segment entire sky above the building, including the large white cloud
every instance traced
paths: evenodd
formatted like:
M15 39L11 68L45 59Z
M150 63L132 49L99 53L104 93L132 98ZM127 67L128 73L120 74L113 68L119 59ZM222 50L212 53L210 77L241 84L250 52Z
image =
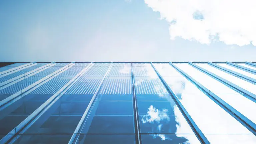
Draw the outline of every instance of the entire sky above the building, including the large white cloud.
M253 61L253 0L1 0L0 61Z

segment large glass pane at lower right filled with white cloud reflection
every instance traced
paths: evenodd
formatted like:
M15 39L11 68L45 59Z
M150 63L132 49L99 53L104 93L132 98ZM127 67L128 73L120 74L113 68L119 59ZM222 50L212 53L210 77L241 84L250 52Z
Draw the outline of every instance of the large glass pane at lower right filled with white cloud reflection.
M251 134L204 94L182 94L180 102L204 134ZM210 141L211 142L211 141Z

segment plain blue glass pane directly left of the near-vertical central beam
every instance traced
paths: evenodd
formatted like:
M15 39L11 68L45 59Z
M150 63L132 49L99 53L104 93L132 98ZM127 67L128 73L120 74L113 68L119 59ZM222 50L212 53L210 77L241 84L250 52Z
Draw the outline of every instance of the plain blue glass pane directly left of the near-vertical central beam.
M132 95L99 94L82 134L134 134Z

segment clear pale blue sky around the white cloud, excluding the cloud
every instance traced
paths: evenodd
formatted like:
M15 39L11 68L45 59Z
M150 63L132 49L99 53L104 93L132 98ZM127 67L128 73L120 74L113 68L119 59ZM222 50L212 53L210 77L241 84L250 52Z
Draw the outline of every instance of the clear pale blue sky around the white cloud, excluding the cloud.
M256 61L253 44L202 44L184 35L171 40L168 17L161 19L165 13L153 6L142 0L2 0L0 61Z

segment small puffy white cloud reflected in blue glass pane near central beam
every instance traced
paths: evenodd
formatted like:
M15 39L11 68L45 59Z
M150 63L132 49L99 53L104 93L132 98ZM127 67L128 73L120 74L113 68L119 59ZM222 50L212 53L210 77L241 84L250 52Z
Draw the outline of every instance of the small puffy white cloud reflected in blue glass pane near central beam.
M147 115L143 116L141 121L143 123L146 123L146 122L154 122L156 121L157 123L159 123L161 120L163 119L167 119L168 121L170 120L169 116L167 115L167 112L168 112L168 109L162 109L161 110L158 110L156 109L155 107L153 107L152 105L149 106L148 108L148 112L147 112ZM161 127L161 126L160 126ZM159 127L158 127L159 128Z

